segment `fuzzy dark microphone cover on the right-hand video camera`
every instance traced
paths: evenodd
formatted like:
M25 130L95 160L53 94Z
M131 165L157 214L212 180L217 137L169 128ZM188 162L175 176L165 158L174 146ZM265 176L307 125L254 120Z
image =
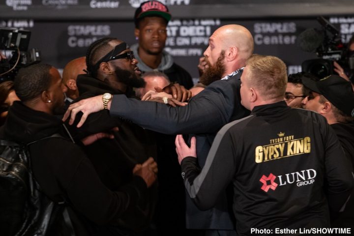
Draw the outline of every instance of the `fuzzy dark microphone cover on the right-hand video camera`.
M316 49L322 45L323 41L323 30L310 28L304 30L297 36L296 45L300 47L302 51L315 53Z

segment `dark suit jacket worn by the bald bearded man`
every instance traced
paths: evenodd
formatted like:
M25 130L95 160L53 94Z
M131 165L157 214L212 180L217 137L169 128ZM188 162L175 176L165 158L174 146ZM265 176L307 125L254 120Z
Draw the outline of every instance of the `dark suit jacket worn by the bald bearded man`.
M113 96L110 114L132 120L145 128L165 134L195 134L200 166L204 166L215 134L226 123L249 114L240 104L240 74L218 80L194 96L184 107ZM139 115L137 115L139 114ZM216 206L201 211L187 198L186 227L189 229L234 229L226 194Z

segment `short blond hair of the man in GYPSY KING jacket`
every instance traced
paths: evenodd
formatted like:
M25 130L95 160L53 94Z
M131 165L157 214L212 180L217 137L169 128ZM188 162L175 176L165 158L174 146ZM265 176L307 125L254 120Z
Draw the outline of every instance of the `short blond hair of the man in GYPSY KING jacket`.
M285 63L274 56L254 54L246 61L250 76L248 82L266 99L283 97L288 76Z

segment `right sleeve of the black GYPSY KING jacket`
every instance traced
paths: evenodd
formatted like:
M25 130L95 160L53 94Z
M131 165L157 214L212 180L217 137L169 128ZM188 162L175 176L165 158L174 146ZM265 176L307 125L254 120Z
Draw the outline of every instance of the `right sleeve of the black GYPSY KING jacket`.
M323 124L323 129L328 204L332 210L341 211L351 195L354 184L352 165L333 129L326 123Z

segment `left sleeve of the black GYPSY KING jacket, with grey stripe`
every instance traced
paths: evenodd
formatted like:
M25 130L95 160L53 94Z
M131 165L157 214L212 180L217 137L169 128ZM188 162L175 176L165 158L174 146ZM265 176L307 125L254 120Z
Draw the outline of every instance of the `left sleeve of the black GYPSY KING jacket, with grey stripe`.
M181 162L185 188L194 204L201 210L214 207L221 192L232 181L236 170L236 151L228 127L216 135L200 171L196 158L187 157Z

